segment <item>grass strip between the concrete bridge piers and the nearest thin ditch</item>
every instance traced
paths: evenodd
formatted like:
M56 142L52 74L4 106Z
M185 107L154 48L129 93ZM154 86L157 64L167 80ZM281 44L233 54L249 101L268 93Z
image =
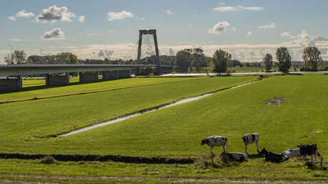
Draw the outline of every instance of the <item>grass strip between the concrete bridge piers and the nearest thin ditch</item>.
M162 77L162 78L130 78L125 80L111 80L94 83L77 82L76 78L70 79L69 86L46 86L45 80L23 80L22 92L0 92L1 102L17 102L29 99L41 99L48 97L61 97L65 95L85 94L92 92L103 92L119 90L130 87L146 85L159 85L169 82L180 82L186 80L197 80L195 77Z

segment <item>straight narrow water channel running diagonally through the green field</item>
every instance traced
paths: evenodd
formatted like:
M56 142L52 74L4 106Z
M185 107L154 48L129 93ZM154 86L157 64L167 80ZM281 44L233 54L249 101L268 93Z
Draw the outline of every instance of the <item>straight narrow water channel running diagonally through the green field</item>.
M96 124L96 125L93 125L93 126L88 126L88 127L86 127L86 128L83 128L83 129L79 129L79 130L76 130L76 131L71 131L71 132L69 132L69 133L67 133L67 134L63 134L63 135L61 135L61 136L57 136L57 137L55 137L55 139L60 138L60 137L63 137L63 136L70 136L70 135L73 135L73 134L78 134L79 132L82 132L82 131L88 131L88 130L91 130L91 129L96 129L96 128L98 128L98 127L106 126L106 125L108 125L108 124L117 123L117 122L119 122L119 121L123 121L123 120L125 120L125 119L130 119L131 117L137 117L137 116L139 116L140 114L145 114L145 113L148 113L148 112L157 111L157 110L164 109L164 108L167 108L167 107L173 107L173 106L178 105L178 104L185 104L185 103L187 103L187 102L193 102L193 101L195 101L195 100L202 99L203 97L210 96L210 95L215 94L215 93L217 93L217 92L221 92L221 91L223 91L223 90L229 90L229 89L236 88L236 87L241 87L241 86L248 85L248 84L250 84L250 83L252 83L252 82L256 82L256 81L257 81L257 80L255 80L255 81L251 81L251 82L247 82L247 83L242 84L242 85L237 85L237 86L233 86L233 87L227 87L227 88L224 88L224 89L222 89L222 90L217 90L216 92L209 92L209 93L207 93L207 94L202 94L202 95L200 95L200 96L198 96L198 97L190 97L190 98L188 98L188 99L182 99L182 100L180 100L180 101L178 101L178 102L173 102L172 104L165 105L164 107L160 107L160 108L158 108L158 109L150 109L149 111L146 111L146 112L137 113L137 114L132 114L132 115L129 115L129 116L127 116L127 117L122 117L122 118L114 119L114 120L112 120L112 121L103 122L103 123L101 123L101 124Z

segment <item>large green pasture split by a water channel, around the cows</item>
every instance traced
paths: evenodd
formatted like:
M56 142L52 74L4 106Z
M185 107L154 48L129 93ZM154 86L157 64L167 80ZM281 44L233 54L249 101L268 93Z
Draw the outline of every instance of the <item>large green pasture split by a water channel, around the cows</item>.
M61 134L255 79L254 76L205 77L126 90L0 104L2 153L191 157L196 161L191 165L59 161L44 165L38 160L1 159L2 179L15 178L15 175L8 175L14 173L32 175L27 180L34 180L33 175L107 175L140 176L145 180L158 177L327 181L327 75L273 76L195 102L160 109L72 136L35 138ZM133 80L139 79L128 80L132 84ZM286 100L281 106L267 106L267 99L273 97L285 97ZM210 148L200 146L201 139L212 135L228 136L231 140L229 151L244 152L241 137L253 132L260 134L260 148L275 153L296 148L299 144L316 143L319 153L324 156L323 166L319 167L317 163L310 169L299 159L267 163L258 156L252 156L247 163L231 164L220 163L215 158L215 168L210 166ZM215 155L221 151L222 148L215 148ZM251 144L248 153L255 154L256 146ZM58 178L53 181L63 182Z

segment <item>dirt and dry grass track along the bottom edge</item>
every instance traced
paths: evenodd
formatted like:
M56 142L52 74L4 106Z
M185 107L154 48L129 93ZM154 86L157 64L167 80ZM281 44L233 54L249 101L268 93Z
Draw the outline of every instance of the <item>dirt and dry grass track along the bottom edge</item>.
M328 180L234 180L234 179L197 179L197 178L145 178L128 176L62 176L62 175L23 175L0 174L0 183L107 183L149 181L164 183L328 183Z

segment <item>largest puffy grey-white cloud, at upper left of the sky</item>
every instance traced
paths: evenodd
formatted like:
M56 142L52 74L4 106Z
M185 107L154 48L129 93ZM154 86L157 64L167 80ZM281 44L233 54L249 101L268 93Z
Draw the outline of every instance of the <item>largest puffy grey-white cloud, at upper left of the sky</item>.
M48 9L43 9L42 13L36 17L36 21L43 23L54 23L56 21L71 22L71 18L75 17L75 14L68 11L66 6L60 8L51 6Z

